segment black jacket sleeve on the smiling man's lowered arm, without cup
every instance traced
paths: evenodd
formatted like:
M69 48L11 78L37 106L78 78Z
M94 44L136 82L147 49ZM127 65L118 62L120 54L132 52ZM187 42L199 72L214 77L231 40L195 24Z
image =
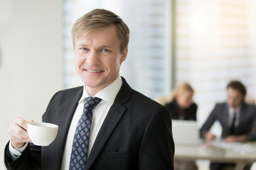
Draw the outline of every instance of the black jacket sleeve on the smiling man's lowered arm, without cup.
M174 140L171 118L165 107L149 120L139 149L139 169L174 169Z

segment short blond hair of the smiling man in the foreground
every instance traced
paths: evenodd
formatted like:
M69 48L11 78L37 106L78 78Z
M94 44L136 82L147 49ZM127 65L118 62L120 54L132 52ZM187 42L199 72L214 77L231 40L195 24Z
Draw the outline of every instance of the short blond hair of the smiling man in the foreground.
M88 13L85 13L84 16L78 18L78 20L75 21L72 28L74 49L76 39L87 35L87 33L90 33L92 30L105 28L108 26L115 26L117 30L117 36L121 41L120 52L123 52L123 50L128 47L129 28L124 23L124 21L119 18L119 16L117 16L112 11L107 11L105 9L92 10Z

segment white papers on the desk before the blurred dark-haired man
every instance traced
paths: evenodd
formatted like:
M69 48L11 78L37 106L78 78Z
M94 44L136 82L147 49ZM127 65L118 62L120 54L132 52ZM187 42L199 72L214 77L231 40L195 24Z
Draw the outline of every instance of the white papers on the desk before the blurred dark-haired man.
M208 144L214 147L219 147L221 149L228 149L233 152L237 152L239 154L255 154L256 153L256 146L250 143L241 143L241 142L228 143L223 140L220 140L220 141L209 142Z

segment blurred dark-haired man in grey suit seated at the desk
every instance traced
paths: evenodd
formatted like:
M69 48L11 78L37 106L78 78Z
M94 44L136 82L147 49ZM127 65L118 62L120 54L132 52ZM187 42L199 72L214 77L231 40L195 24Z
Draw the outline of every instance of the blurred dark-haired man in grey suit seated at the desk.
M245 142L256 140L256 107L245 103L246 89L240 81L230 81L227 86L228 98L225 103L217 103L201 128L201 137L208 141L216 136L210 128L218 120L222 127L221 137L225 142ZM210 164L210 169L221 170L226 164ZM250 165L246 167L250 169Z

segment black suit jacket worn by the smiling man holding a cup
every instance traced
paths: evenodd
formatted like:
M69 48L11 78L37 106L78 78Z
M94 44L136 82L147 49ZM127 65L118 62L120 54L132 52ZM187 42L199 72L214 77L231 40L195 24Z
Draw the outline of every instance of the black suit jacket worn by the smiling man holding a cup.
M85 169L174 169L169 112L131 89L124 79L122 81L122 88L100 128ZM59 126L54 142L48 147L30 144L14 162L11 162L6 145L6 167L60 169L70 122L81 96L82 87L55 94L43 115L43 122Z

